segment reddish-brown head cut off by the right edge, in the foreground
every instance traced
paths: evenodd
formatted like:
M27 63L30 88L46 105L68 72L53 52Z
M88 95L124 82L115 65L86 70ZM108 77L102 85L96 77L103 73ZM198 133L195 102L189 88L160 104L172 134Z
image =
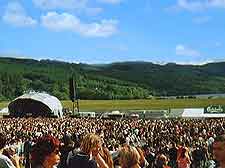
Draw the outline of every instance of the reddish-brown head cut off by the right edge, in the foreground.
M213 143L213 154L217 161L225 162L225 134L215 138Z

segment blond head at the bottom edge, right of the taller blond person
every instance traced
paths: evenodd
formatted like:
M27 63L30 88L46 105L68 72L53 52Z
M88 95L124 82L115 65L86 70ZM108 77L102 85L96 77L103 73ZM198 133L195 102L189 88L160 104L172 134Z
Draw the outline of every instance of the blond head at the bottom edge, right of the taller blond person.
M132 168L139 165L140 155L132 146L124 146L119 152L121 168Z

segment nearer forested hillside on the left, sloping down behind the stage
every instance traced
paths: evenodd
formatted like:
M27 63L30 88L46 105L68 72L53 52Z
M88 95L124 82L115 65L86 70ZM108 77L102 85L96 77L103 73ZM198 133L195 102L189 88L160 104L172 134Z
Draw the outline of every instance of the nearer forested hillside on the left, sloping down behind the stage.
M91 73L95 66L59 61L0 58L0 100L11 100L26 91L47 92L69 99L69 78L73 75L80 99L138 99L149 91L135 82Z

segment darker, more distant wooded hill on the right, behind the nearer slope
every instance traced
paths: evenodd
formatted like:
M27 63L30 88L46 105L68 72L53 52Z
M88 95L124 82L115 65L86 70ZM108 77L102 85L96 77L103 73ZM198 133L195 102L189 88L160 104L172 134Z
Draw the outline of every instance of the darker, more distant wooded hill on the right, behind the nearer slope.
M124 62L111 64L100 73L135 82L156 95L225 92L225 62L202 66Z

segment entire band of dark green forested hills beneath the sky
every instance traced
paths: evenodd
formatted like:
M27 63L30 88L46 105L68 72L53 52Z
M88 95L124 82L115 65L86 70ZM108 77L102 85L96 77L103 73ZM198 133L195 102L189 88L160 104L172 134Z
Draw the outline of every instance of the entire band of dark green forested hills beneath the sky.
M69 99L69 78L80 99L139 99L149 95L225 93L225 63L202 66L148 62L105 65L0 58L0 100L45 91Z

